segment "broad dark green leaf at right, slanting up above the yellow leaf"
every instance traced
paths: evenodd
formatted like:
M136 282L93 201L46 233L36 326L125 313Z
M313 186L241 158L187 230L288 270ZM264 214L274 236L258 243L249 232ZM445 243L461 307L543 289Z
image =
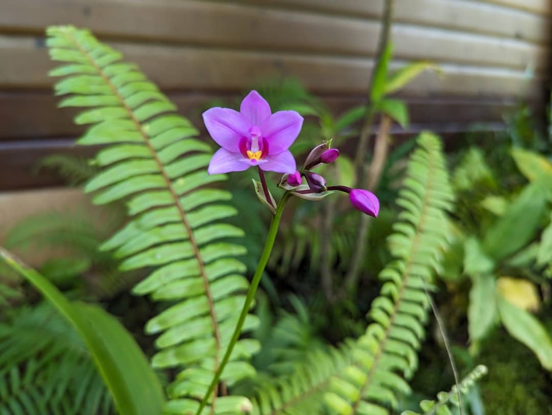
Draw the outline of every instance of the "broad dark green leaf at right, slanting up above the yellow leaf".
M487 231L482 244L487 255L500 260L527 245L537 233L545 202L538 183L526 186Z

